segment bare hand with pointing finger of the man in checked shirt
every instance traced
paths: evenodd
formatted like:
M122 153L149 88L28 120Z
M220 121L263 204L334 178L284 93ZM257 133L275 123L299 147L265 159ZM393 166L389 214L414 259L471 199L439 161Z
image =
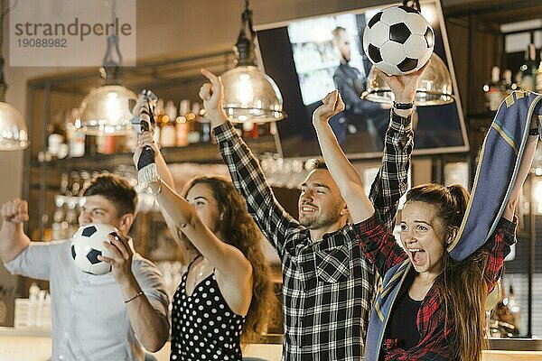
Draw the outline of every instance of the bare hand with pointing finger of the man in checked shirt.
M224 86L222 85L222 80L208 69L201 69L201 74L210 81L209 83L204 83L200 88L203 107L209 115L212 125L220 125L228 119L222 108L224 103Z

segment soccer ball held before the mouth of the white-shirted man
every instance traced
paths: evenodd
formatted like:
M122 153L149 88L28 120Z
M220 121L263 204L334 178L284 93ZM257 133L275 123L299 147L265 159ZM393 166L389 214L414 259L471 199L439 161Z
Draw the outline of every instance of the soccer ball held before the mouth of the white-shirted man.
M111 266L98 260L98 255L112 256L103 242L109 242L108 235L118 236L117 232L117 228L103 223L79 227L71 240L71 257L81 271L92 274L111 271Z

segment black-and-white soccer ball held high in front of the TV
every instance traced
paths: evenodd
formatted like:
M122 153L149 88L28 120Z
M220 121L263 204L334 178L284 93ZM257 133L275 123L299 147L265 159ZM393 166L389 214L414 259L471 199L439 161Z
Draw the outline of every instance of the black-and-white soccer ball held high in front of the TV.
M392 6L375 14L363 32L363 50L388 75L422 68L433 53L435 33L416 9Z

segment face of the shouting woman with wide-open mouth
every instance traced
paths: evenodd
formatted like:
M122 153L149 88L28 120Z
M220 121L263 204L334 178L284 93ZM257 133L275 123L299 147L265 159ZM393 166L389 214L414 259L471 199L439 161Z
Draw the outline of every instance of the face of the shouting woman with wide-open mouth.
M444 227L436 218L435 206L406 202L401 219L401 243L418 273L442 273Z

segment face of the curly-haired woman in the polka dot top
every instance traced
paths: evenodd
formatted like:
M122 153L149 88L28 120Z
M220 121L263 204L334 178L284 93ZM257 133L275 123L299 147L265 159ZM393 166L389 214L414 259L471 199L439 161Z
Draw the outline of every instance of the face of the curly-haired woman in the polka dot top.
M186 193L186 200L196 209L201 222L212 232L219 228L220 209L210 186L205 183L196 183Z

